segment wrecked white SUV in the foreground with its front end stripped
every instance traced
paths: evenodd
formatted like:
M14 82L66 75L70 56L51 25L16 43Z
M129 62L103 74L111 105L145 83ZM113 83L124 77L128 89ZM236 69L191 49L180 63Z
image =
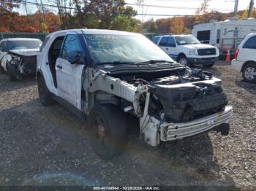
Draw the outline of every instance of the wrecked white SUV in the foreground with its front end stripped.
M129 115L155 147L212 129L227 134L233 111L220 79L124 31L49 34L37 56L37 82L42 105L59 101L86 119L91 145L105 159L127 147Z

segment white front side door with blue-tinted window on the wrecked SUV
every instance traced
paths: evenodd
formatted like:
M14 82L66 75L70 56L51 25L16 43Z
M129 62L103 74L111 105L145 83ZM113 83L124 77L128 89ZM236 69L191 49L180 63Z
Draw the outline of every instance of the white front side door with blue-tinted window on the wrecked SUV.
M81 58L83 63L78 63L78 58ZM85 55L77 34L67 34L61 49L61 56L56 61L57 89L59 97L79 110L81 109L84 58Z

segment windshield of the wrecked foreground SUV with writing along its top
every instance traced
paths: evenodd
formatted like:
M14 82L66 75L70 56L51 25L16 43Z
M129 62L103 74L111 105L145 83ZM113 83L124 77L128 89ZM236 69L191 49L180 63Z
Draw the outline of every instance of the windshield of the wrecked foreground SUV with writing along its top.
M84 34L95 63L140 63L173 60L144 36Z

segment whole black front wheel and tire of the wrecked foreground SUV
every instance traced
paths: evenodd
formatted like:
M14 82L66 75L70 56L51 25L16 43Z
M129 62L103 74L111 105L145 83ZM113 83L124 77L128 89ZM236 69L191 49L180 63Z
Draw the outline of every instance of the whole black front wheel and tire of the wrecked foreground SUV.
M127 148L128 127L126 117L110 104L97 105L89 114L91 146L104 160L121 155Z

